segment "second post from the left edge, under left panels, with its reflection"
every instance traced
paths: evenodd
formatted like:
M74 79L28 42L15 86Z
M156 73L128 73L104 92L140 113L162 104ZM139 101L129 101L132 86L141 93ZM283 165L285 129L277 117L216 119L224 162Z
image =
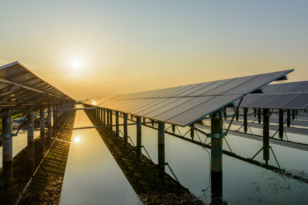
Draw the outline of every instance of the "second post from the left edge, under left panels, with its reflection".
M28 146L27 146L27 156L28 156L28 168L29 173L33 174L34 172L34 116L33 111L29 112L27 118L27 139L28 139Z

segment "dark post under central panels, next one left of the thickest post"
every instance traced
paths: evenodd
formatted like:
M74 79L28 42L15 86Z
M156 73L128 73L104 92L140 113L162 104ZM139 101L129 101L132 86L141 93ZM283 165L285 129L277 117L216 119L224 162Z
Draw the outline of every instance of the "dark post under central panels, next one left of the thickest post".
M165 123L158 123L158 168L159 178L165 181Z

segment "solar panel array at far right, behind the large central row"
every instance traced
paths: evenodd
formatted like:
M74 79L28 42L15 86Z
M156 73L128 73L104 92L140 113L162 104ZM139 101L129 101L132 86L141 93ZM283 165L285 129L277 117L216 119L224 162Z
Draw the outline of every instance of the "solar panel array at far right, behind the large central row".
M308 81L269 84L261 94L249 94L243 108L308 109ZM239 100L235 105L239 104Z

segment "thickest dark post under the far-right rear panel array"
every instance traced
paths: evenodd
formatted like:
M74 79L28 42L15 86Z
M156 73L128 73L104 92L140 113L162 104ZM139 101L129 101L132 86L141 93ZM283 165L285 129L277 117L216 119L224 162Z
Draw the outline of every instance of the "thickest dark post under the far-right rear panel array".
M270 110L268 108L263 109L263 159L266 165L269 160L269 119Z

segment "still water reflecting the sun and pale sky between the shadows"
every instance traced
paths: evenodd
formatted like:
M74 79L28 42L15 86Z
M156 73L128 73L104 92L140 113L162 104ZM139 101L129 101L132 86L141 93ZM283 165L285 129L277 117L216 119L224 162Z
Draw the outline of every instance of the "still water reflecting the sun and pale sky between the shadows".
M123 123L121 118L119 123ZM74 127L87 126L92 126L92 123L85 112L76 111ZM168 127L166 124L166 128ZM120 127L123 132L122 129ZM179 130L183 134L187 132L187 128ZM204 131L209 132L206 129ZM128 135L135 143L134 125L128 126ZM202 142L205 141L204 136L199 134L199 137ZM235 135L228 135L226 140L232 151L243 157L252 157L262 147L260 141ZM157 130L142 126L142 145L156 164L157 143ZM307 178L306 151L279 145L271 146L282 168ZM228 150L225 142L223 149ZM143 149L142 153L146 155ZM210 161L206 150L199 145L166 134L165 157L184 187L189 188L190 192L205 203L211 202ZM262 152L256 160L263 161ZM269 164L277 166L272 153ZM168 167L166 172L172 176ZM226 155L223 155L222 179L223 200L228 204L308 204L307 183ZM64 175L61 204L140 203L96 129L74 130Z

